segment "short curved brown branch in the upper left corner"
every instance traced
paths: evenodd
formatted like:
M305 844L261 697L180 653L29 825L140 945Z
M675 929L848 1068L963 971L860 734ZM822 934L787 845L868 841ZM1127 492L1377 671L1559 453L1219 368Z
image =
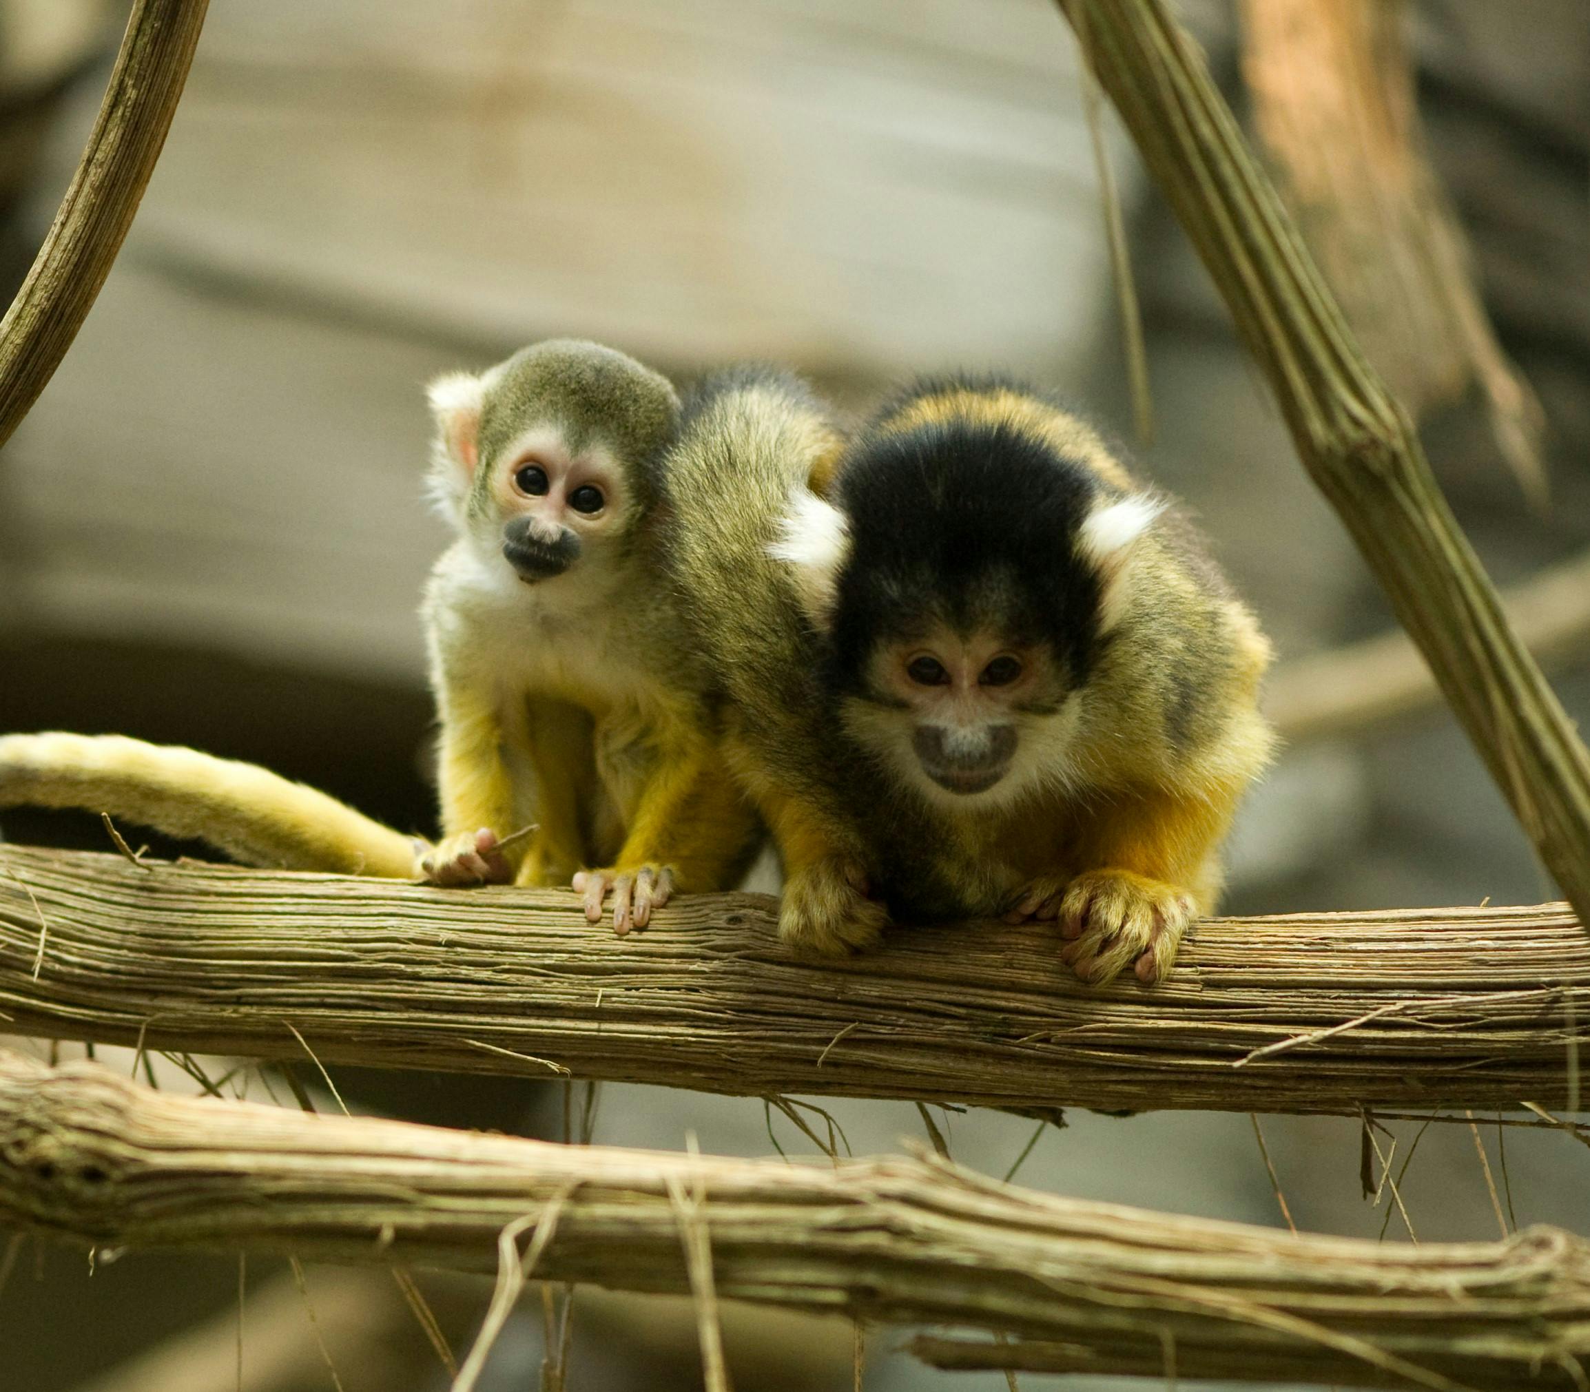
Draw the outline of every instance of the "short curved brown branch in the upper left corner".
M0 447L60 365L138 211L208 0L137 0L72 188L0 321Z

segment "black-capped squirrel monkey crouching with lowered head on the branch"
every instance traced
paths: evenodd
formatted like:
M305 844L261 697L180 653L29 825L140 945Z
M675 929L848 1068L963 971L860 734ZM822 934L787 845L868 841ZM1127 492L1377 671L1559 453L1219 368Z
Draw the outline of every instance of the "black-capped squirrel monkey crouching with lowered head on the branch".
M1048 918L1083 980L1159 980L1274 744L1269 645L1191 524L1016 385L921 381L843 447L774 373L692 410L669 553L784 856L781 934Z

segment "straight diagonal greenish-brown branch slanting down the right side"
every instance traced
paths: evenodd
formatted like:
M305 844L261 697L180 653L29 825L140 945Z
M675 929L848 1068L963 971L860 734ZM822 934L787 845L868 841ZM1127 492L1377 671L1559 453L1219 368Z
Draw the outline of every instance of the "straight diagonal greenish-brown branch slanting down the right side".
M1590 752L1507 624L1407 413L1162 0L1059 0L1280 400L1315 483L1590 922Z

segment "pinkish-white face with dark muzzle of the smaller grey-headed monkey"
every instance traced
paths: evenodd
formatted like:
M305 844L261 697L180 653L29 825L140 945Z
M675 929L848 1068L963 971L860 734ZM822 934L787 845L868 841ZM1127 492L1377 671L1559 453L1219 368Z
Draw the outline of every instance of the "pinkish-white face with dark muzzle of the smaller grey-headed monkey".
M569 450L553 427L514 440L482 483L483 531L526 585L569 572L623 531L628 494L617 461L595 442Z

